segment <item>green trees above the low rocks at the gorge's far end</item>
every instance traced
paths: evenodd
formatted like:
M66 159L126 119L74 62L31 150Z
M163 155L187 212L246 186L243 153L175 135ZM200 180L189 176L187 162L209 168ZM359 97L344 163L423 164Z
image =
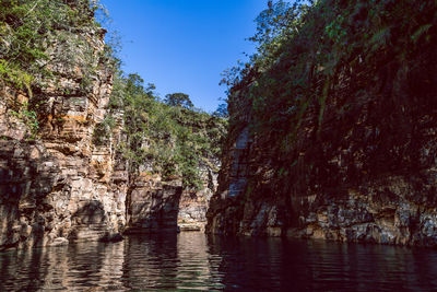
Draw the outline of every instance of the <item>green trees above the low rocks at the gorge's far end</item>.
M180 177L186 188L200 188L200 167L214 167L220 156L226 120L182 103L162 102L153 84L143 85L138 74L115 80L113 113L121 110L127 140L120 145L132 173L160 173L164 179ZM111 118L108 117L107 120Z

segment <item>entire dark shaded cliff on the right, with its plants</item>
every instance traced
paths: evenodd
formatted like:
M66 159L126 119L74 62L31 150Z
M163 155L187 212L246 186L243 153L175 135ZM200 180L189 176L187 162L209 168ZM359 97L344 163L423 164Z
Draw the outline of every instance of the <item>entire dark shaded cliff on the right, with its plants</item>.
M330 37L336 5L355 50L320 44ZM268 69L255 68L233 87L208 232L437 245L436 39L402 43L399 34L387 50L364 52L370 40L354 35L354 25L364 25L354 9L319 2ZM371 15L405 7L361 9L371 23ZM433 22L416 12L409 10L410 17ZM333 58L346 56L333 75L317 65L322 45L335 50Z

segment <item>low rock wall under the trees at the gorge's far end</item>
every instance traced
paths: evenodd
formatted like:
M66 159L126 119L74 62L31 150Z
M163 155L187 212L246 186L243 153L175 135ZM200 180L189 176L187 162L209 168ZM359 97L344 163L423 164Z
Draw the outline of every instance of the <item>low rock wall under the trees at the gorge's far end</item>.
M204 231L206 210L216 189L216 172L202 168L200 190L182 188L179 178L162 180L149 172L133 175L127 196L127 234ZM216 167L214 167L216 170Z

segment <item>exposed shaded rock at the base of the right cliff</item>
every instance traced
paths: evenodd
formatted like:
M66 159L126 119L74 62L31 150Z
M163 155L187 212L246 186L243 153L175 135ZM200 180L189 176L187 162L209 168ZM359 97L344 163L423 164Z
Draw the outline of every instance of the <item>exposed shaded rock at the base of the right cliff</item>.
M422 131L436 132L436 129L434 120ZM273 175L274 167L259 162L260 151L264 149L257 148L257 141L245 144L245 135L235 137L224 160L220 189L211 201L208 232L437 245L437 140L434 135L426 136L426 142L418 149L429 155L430 163L406 175L394 171L380 176L363 173L359 180L352 180L346 176L347 168L362 165L363 161L353 162L339 150L339 156L329 163L339 166L336 176L344 180L339 182L334 176L319 178L338 185L331 185L331 189L320 187L318 191L305 184L296 186L292 179L280 184Z

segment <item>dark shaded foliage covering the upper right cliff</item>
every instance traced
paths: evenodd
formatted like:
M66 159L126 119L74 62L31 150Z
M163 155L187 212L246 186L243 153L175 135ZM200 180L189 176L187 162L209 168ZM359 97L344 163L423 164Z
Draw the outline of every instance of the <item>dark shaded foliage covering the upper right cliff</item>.
M277 1L258 24L258 52L224 80L231 135L249 110L277 179L317 188L342 184L345 163L347 179L432 163L418 128L437 108L436 1Z

